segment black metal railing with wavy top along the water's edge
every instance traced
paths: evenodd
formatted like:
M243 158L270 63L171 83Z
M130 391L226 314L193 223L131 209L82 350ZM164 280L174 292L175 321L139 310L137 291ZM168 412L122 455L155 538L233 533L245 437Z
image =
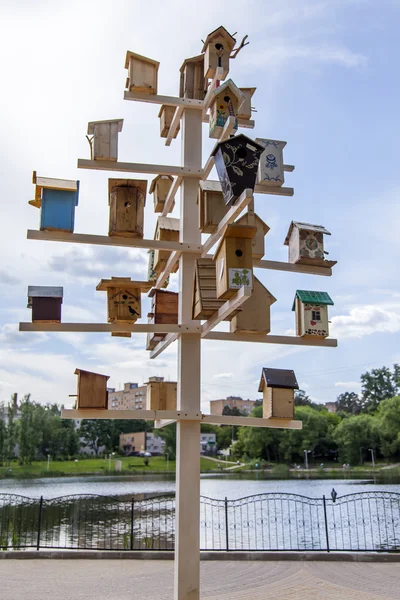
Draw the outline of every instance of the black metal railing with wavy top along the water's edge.
M400 551L400 494L201 498L200 543L219 551ZM45 500L0 494L0 550L173 550L174 495Z

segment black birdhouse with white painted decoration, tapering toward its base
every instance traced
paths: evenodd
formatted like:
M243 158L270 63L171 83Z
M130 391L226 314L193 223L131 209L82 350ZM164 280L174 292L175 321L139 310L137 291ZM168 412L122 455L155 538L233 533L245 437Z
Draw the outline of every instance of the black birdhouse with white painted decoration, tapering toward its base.
M218 142L212 152L225 204L233 204L246 189L254 190L263 147L240 134Z

